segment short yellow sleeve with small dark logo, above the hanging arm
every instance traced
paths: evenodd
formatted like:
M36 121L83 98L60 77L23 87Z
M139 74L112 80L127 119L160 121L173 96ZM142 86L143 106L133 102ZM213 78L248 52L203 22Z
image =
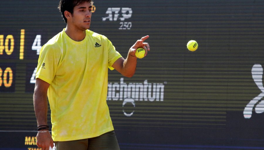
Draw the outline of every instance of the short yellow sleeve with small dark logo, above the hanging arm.
M57 44L45 44L40 49L36 79L39 78L51 84L59 64L61 51Z

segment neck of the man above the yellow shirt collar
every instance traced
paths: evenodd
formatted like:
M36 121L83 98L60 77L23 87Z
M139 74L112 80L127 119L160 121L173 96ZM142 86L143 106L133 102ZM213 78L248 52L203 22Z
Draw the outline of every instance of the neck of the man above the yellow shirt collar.
M74 41L82 41L86 36L86 30L72 29L68 25L65 28L65 33Z

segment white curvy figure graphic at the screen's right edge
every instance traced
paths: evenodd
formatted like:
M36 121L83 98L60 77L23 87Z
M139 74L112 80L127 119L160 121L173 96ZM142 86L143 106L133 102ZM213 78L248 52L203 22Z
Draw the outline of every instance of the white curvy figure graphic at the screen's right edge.
M262 83L262 76L263 76L263 68L260 64L254 64L251 70L252 73L252 78L255 81L255 84L258 86L260 93L257 97L252 99L247 106L244 109L244 118L249 119L252 116L252 110L255 104L258 103L263 97L264 97L264 87ZM256 106L255 106L255 112L260 114L264 112L264 101L260 101Z

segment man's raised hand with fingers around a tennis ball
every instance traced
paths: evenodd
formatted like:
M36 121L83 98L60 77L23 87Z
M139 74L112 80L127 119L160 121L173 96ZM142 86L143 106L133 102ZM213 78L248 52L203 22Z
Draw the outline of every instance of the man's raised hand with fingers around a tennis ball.
M135 56L136 50L140 47L142 47L143 49L145 49L145 56L147 56L148 51L150 51L150 47L148 45L148 43L145 43L144 41L146 39L148 39L148 35L142 37L140 40L137 40L136 43L130 48L129 50L129 54Z

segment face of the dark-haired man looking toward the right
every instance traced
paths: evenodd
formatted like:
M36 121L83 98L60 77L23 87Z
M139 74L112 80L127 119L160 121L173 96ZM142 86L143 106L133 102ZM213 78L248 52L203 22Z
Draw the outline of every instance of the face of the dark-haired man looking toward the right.
M79 4L73 8L73 14L71 19L67 20L79 30L87 30L90 28L91 16L92 16L92 6L88 2Z

